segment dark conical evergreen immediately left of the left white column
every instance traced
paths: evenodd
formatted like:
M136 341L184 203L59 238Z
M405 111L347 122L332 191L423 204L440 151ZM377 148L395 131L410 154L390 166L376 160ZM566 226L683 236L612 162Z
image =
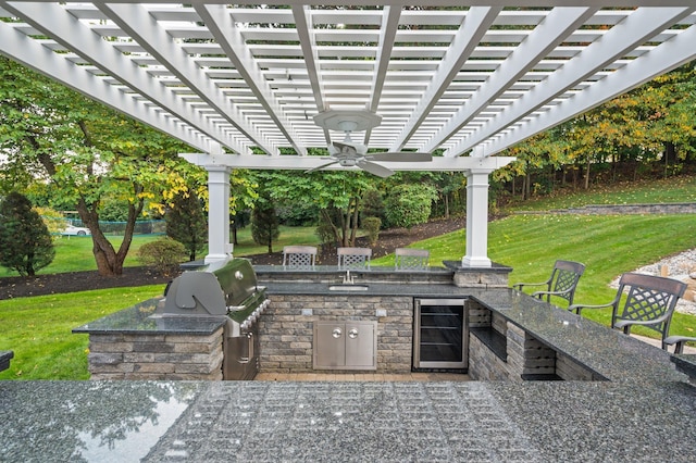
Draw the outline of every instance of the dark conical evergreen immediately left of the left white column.
M174 197L172 209L164 215L166 235L184 245L191 261L202 252L208 242L208 224L198 196L194 191Z

